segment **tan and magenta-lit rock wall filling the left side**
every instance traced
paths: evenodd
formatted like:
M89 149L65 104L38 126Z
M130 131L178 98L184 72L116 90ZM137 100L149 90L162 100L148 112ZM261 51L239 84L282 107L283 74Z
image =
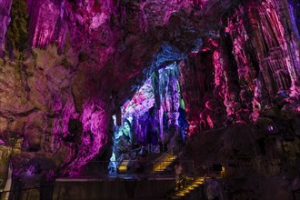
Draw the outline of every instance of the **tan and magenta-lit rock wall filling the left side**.
M1 33L5 35L7 28L0 60L1 186L5 186L9 163L14 176L24 183L27 179L74 175L107 143L111 116L109 82L114 80L96 82L97 73L113 52L111 45L115 45L117 34L105 33L113 31L107 28L110 22L105 23L105 12L114 12L109 9L114 6L19 3L13 2L8 25L12 1L1 1L1 9L7 11L1 12L5 23ZM85 33L100 25L98 33L103 35L94 33L97 36L91 42ZM20 36L24 33L28 34L27 41ZM103 42L94 45L100 43L95 41L98 39ZM25 48L19 48L20 44ZM100 56L90 54L92 51ZM99 95L104 97L95 98Z

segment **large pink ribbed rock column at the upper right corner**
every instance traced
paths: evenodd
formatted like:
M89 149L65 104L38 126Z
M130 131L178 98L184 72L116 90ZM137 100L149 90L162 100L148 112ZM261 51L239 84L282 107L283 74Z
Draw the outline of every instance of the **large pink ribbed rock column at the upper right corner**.
M285 15L285 8L276 1L252 8L251 10L249 8L248 12L252 18L251 34L255 38L255 52L268 92L275 95L280 90L289 89L295 96L299 85L297 78L299 56L295 41L285 37L287 30L292 28L280 17Z

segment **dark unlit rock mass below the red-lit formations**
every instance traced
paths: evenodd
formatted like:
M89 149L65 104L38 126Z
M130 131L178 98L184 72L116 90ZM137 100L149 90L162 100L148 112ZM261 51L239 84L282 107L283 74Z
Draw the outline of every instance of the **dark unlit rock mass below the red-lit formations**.
M299 186L294 176L299 138L288 141L285 135L283 140L259 125L235 125L191 138L182 156L195 164L208 161L225 165L227 181L222 187L228 198L293 199L290 191Z

